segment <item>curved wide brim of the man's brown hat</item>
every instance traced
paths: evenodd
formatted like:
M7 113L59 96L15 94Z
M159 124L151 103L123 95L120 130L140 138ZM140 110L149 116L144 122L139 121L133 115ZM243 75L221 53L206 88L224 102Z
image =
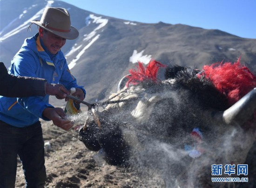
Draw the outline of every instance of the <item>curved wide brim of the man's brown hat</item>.
M62 37L64 39L76 39L79 36L79 32L76 28L74 28L73 26L70 26L70 31L69 32L59 32L59 31L55 31L52 29L49 29L47 27L45 27L44 25L42 25L42 23L39 20L34 20L31 21L32 23L36 24L37 26L40 26L42 28L44 28L45 30L47 30L48 32L51 32L55 35L58 35L59 37Z

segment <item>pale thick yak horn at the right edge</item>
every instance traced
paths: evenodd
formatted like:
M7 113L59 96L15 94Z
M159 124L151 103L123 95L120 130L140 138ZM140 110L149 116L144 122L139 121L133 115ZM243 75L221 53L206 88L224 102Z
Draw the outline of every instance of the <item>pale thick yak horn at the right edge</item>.
M249 120L256 110L256 88L247 93L229 109L225 110L222 119L227 124L242 125Z

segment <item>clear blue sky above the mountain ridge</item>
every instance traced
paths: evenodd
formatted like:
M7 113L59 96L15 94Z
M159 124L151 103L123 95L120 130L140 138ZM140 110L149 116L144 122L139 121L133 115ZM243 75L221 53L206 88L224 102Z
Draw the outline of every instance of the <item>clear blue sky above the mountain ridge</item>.
M256 39L256 0L62 0L84 10L142 23L185 24Z

